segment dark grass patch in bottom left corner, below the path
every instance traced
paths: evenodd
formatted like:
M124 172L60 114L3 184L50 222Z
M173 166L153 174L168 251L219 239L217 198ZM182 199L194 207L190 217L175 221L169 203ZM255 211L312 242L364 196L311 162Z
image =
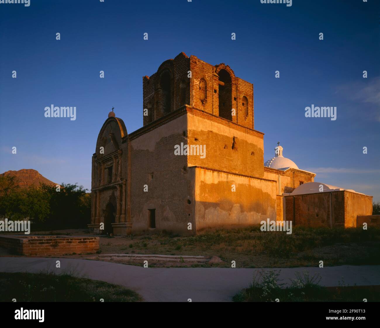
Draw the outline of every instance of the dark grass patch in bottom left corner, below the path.
M122 286L71 274L0 273L0 301L138 302L141 296Z

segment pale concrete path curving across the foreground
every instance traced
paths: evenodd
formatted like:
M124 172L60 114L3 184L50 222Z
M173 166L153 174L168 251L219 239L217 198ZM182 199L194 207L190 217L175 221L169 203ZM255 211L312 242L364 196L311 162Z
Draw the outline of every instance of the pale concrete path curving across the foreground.
M61 268L55 268L60 260ZM146 301L218 302L231 301L248 287L253 274L261 269L246 268L142 268L112 262L66 258L0 257L0 272L70 271L76 276L123 285L138 292ZM269 270L269 269L264 269ZM337 286L344 277L349 285L380 285L380 265L342 265L325 268L281 268L280 279L289 282L296 271L307 270L322 276L320 285Z

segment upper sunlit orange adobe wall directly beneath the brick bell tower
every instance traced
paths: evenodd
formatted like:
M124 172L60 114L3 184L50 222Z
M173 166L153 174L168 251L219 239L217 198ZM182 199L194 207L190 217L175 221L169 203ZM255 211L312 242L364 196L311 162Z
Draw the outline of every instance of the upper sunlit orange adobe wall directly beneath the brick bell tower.
M188 166L263 177L263 133L192 108L187 120L188 144L206 145L206 157L188 156Z

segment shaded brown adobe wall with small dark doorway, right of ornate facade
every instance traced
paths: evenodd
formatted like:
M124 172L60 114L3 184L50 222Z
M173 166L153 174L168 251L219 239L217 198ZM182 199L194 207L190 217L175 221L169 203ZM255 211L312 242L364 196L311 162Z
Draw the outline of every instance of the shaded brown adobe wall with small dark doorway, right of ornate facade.
M186 131L187 116L181 115L137 137L130 135L132 233L195 233L187 230L188 222L194 226L194 172L188 170L187 156L174 155L175 145L187 144ZM153 208L155 229L148 219Z

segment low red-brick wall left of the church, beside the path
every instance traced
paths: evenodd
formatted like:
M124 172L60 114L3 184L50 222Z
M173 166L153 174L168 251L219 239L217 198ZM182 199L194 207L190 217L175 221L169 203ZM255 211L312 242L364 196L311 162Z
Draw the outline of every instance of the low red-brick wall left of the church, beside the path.
M18 255L95 253L99 250L99 237L0 236L0 246Z

